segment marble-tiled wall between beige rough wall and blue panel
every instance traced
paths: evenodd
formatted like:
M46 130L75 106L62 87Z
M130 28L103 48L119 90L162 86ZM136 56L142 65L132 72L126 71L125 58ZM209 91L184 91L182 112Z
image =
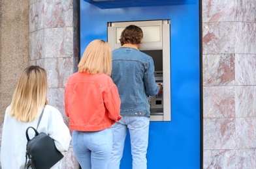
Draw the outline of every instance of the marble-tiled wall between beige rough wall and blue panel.
M48 73L48 101L69 119L64 110L64 90L69 76L77 71L79 54L78 0L29 1L29 64ZM63 168L78 168L72 146L65 153Z

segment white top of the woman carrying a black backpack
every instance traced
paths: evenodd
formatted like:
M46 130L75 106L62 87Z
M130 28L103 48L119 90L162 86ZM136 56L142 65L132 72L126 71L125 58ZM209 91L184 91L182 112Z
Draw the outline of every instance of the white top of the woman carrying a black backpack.
M25 164L25 149L27 138L25 131L27 127L32 126L37 129L39 118L32 122L20 122L14 117L8 115L8 109L5 111L5 120L3 122L3 133L1 142L1 166L2 169L22 168ZM44 114L37 129L39 133L44 132L54 139L56 148L61 151L67 151L71 141L69 128L63 122L61 113L56 108L46 105ZM35 136L35 131L29 129L29 138ZM27 159L28 161L29 159ZM61 168L61 161L57 162L52 168Z

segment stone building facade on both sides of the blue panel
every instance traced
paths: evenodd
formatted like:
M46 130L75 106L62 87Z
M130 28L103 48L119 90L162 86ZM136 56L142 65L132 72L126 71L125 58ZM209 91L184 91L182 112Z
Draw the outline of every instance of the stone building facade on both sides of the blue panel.
M256 168L256 1L202 0L202 168ZM65 116L76 72L79 0L0 2L0 119L25 67L48 73L48 100ZM72 147L64 168L78 168Z

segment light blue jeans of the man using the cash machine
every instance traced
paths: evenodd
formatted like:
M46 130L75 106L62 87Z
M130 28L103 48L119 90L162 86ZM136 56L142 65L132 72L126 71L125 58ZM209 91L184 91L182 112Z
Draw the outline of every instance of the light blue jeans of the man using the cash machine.
M150 118L144 116L122 116L121 120L111 127L113 148L108 162L108 169L119 169L127 130L131 138L131 154L133 169L146 169L146 153L148 149L148 132Z

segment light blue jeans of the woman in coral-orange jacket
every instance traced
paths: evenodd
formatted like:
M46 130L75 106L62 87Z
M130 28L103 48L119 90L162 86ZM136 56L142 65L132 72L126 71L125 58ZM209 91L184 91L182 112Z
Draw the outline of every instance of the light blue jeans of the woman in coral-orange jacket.
M112 131L72 131L72 147L82 169L107 169Z

